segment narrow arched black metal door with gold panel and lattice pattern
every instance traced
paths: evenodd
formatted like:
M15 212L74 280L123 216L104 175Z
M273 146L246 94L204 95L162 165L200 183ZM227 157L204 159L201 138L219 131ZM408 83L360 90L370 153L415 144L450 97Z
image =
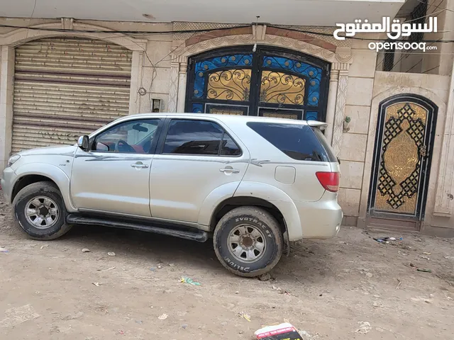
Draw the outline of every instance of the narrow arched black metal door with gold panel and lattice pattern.
M414 95L394 96L380 104L370 217L406 220L400 227L419 228L426 205L436 113L433 103Z

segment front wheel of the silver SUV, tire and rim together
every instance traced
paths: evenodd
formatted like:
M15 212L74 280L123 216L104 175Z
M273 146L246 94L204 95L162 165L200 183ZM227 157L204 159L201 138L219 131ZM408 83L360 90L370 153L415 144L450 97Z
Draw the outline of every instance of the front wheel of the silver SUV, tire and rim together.
M13 213L21 229L33 239L57 239L70 231L60 190L52 182L37 182L18 192Z

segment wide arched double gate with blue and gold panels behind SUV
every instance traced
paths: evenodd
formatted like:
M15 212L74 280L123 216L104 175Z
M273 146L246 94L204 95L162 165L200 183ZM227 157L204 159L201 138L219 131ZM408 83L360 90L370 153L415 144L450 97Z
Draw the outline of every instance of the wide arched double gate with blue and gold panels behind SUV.
M189 58L186 111L321 120L329 64L275 47L228 47Z

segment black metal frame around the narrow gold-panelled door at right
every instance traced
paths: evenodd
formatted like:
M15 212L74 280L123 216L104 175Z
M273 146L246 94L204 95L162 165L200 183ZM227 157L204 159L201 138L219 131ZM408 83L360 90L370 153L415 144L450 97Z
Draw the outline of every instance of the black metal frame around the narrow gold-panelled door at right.
M393 213L393 212L380 212L374 209L375 205L375 194L377 192L377 181L378 172L380 169L380 160L382 157L382 140L384 132L384 117L386 115L386 109L395 103L416 103L428 111L426 131L424 135L424 143L427 145L428 157L423 159L421 162L421 172L419 174L419 191L418 201L416 203L416 212L414 215L404 213ZM425 215L426 210L426 199L428 191L428 182L431 171L431 162L433 156L433 142L435 140L435 129L436 120L438 114L438 107L432 101L429 101L423 96L416 94L398 94L396 96L389 97L382 101L379 105L379 115L377 119L377 132L375 135L375 147L374 147L374 158L372 162L372 174L369 188L369 197L367 200L367 216L387 218L391 220L406 220L421 222Z

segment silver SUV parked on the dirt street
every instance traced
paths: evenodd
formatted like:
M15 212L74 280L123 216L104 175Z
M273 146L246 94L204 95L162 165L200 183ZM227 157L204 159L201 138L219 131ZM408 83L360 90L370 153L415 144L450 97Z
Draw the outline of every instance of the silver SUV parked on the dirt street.
M14 154L1 179L33 239L72 225L213 238L219 261L259 276L299 239L337 234L339 164L324 123L236 115L129 115L77 145Z

